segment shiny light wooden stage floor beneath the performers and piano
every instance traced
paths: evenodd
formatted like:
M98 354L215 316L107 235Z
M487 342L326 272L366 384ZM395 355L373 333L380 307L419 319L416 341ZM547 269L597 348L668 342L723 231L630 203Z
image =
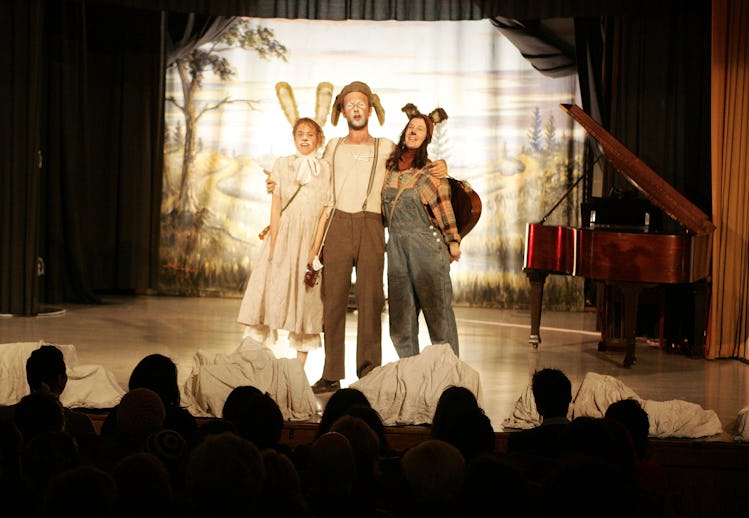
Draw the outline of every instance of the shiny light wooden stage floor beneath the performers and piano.
M183 380L195 352L229 353L240 343L243 327L236 322L239 299L162 296L106 296L100 305L64 305L62 312L37 317L0 318L0 344L44 340L73 344L81 364L100 364L123 388L136 363L151 353L169 356ZM664 351L638 341L637 363L624 368L622 350L598 351L595 313L545 312L542 343L528 345L528 311L456 307L460 356L479 372L482 403L496 431L536 369L554 367L572 381L573 391L588 372L620 379L641 398L685 400L714 410L721 420L722 440L730 440L738 411L749 404L749 365L737 360L707 361ZM429 344L422 325L422 347ZM396 361L383 314L383 363ZM281 334L276 356L295 357ZM356 381L356 314L349 313L346 372L342 385ZM324 352L312 351L305 371L310 383L322 372ZM324 404L324 403L323 403ZM716 438L717 439L717 438Z

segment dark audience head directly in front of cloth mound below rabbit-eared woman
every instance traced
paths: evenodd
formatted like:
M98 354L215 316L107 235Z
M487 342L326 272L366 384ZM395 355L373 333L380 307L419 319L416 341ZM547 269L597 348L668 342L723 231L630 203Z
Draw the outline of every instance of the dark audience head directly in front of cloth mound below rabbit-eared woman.
M283 433L283 413L270 394L255 387L237 387L229 393L222 411L239 435L264 450L276 446Z

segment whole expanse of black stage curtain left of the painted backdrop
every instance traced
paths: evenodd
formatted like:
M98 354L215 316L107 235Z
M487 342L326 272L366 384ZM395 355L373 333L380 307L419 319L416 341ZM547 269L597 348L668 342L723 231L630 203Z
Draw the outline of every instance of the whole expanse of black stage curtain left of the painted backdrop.
M0 312L155 286L161 13L17 0L0 3L0 19Z

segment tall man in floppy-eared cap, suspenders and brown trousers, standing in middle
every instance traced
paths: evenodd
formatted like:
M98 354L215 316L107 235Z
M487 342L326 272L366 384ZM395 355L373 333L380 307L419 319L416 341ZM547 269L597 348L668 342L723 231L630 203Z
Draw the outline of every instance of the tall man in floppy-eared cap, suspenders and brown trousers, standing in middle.
M324 157L332 166L334 207L323 248L323 333L325 366L312 385L315 393L334 392L345 378L345 331L351 272L356 268L354 294L358 311L356 374L359 378L382 363L382 308L385 303L382 275L385 230L381 190L385 162L395 148L386 138L369 133L374 109L380 124L385 110L366 83L349 83L333 101L331 122L343 115L348 134L331 139ZM444 178L444 161L431 164L430 173Z

